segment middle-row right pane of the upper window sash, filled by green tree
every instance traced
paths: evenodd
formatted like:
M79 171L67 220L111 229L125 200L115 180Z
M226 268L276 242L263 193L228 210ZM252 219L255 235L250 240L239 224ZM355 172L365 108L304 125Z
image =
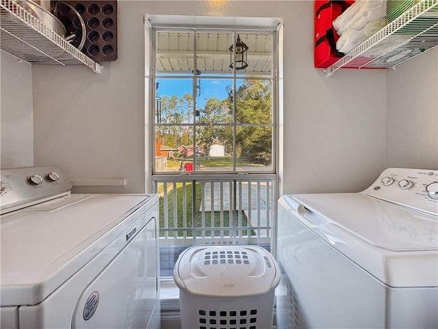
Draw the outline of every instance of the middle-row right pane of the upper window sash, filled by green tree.
M272 123L272 82L237 80L237 123Z

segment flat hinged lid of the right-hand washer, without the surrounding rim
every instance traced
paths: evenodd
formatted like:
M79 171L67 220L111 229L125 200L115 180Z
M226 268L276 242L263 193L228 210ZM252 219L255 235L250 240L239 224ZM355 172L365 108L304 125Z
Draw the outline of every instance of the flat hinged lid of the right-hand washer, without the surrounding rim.
M368 195L294 195L311 226L332 224L381 249L396 252L438 250L438 217Z

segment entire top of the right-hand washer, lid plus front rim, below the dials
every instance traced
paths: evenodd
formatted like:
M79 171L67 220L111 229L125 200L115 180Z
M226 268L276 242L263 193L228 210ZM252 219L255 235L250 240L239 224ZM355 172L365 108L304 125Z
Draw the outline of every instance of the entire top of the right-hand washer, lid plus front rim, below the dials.
M356 193L283 196L281 204L390 287L438 286L438 216Z

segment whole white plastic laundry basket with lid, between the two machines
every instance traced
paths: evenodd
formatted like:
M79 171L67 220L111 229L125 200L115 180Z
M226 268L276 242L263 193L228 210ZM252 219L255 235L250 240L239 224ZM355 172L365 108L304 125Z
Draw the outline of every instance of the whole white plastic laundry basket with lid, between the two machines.
M173 269L181 329L270 329L280 270L256 245L199 245Z

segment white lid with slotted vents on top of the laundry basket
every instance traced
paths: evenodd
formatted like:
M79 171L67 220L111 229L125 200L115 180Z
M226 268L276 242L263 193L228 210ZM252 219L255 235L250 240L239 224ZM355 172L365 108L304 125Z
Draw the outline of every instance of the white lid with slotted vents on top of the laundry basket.
M263 295L280 282L272 255L257 245L201 245L179 256L173 276L179 289L207 297Z

